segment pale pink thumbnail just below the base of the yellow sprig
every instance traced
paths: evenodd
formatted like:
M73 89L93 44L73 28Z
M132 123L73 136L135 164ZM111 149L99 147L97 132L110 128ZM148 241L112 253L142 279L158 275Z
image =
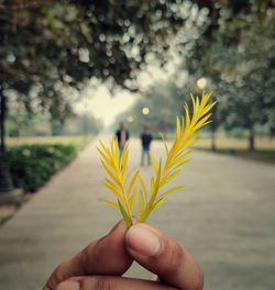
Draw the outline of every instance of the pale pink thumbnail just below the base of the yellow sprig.
M128 247L134 254L154 256L161 248L160 237L144 224L133 225L127 233Z

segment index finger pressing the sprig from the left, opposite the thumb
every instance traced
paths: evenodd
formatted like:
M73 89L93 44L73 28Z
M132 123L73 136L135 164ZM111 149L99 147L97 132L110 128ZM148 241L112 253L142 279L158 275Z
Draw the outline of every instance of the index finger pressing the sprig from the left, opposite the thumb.
M44 290L55 289L59 282L70 277L124 274L133 261L124 245L127 230L125 223L120 222L108 235L61 264L48 278Z

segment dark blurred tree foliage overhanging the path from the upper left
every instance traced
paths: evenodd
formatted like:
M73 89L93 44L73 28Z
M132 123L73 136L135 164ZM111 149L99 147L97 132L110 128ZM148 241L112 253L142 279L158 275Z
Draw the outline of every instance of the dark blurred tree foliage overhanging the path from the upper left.
M9 101L4 90L23 93L22 102L32 110L29 91L38 86L38 104L54 107L55 115L64 112L56 105L61 98L56 82L80 89L96 77L108 80L111 88L136 90L136 71L146 64L147 53L165 62L169 36L185 21L177 12L179 4L175 0L1 0L1 149Z

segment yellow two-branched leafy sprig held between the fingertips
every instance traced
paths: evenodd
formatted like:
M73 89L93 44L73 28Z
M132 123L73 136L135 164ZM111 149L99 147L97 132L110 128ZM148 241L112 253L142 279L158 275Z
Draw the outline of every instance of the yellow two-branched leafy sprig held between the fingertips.
M116 198L116 201L108 199L105 201L120 210L129 227L133 224L133 209L138 198L138 220L139 222L145 222L153 210L166 202L168 194L183 188L177 186L164 189L180 172L183 165L188 161L188 156L191 152L187 148L196 142L198 130L211 122L209 121L210 110L215 102L209 102L210 96L211 92L204 92L201 100L199 100L198 97L194 98L191 94L193 113L190 114L189 107L185 104L185 118L180 120L177 116L176 119L176 136L170 148L168 148L163 138L166 153L165 159L160 158L160 160L156 160L151 155L155 176L151 178L150 190L146 189L139 169L132 175L127 172L129 144L125 145L120 156L116 137L111 138L109 146L100 142L98 152L101 157L101 164L109 176L105 178L105 186Z

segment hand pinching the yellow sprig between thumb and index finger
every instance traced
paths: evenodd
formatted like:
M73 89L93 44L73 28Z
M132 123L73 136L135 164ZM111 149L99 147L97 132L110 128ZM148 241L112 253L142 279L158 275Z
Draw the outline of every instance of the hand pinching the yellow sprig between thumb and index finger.
M158 281L121 277L136 260ZM201 290L202 272L190 254L146 224L120 222L101 239L61 264L44 290Z

